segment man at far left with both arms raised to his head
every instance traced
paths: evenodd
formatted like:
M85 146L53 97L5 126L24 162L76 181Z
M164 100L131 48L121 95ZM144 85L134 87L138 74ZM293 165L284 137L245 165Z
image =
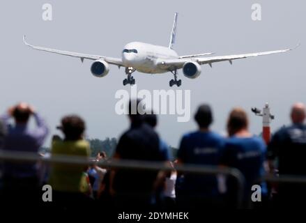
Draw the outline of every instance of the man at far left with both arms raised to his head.
M31 116L36 121L35 128L29 128ZM14 125L11 124L11 119L15 122ZM10 107L0 120L7 129L3 151L38 153L47 137L48 128L44 119L31 105L21 102ZM2 171L4 200L38 199L39 179L35 162L17 164L6 161L3 163Z

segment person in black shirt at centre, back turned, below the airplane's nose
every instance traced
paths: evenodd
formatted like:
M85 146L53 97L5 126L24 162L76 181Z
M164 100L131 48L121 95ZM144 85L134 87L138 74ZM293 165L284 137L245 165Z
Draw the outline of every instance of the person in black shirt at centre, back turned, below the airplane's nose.
M160 150L160 139L150 125L144 123L144 114L138 109L132 114L129 103L130 129L118 141L114 159L116 160L141 160L141 161L166 161L165 153ZM114 195L118 208L147 208L151 205L157 171L118 170L111 174L111 194Z

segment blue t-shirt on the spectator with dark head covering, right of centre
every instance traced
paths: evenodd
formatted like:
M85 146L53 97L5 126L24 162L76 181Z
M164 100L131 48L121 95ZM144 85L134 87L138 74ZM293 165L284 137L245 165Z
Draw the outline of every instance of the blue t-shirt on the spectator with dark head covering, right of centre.
M191 132L185 134L178 149L178 159L184 164L214 165L219 164L220 151L224 139L214 132ZM180 180L182 192L211 196L218 193L215 176L185 174Z

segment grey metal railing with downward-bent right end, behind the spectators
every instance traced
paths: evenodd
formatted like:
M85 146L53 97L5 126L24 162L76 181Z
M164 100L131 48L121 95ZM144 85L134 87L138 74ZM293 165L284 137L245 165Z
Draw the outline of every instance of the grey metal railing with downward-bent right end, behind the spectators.
M88 158L72 155L54 155L52 157L42 157L37 153L20 151L0 151L0 160L9 162L44 162L48 164L71 164L71 165L92 165L97 164L105 169L134 169L148 171L173 171L165 162L148 162L141 160L104 160L95 161ZM237 208L243 208L244 177L238 169L228 167L213 167L194 164L176 165L176 171L189 174L214 175L223 174L232 176L237 183Z

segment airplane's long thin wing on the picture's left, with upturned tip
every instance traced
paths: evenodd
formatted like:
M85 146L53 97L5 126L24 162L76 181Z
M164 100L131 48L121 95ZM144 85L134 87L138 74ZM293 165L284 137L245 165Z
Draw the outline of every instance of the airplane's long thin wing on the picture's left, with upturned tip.
M54 54L61 54L61 55L65 55L65 56L77 57L77 58L81 59L82 62L83 62L84 59L89 59L89 60L94 60L94 61L98 60L98 59L103 59L107 63L114 64L114 65L117 65L117 66L123 66L123 62L119 58L99 56L99 55L91 55L91 54L80 54L80 53L76 53L76 52L68 52L68 51L63 51L63 50L59 50L59 49L49 49L49 48L46 48L46 47L38 47L38 46L30 45L29 43L26 43L26 36L24 36L24 44L31 47L32 49L37 49L37 50L41 50L41 51L45 51L45 52L51 52L51 53L54 53Z

